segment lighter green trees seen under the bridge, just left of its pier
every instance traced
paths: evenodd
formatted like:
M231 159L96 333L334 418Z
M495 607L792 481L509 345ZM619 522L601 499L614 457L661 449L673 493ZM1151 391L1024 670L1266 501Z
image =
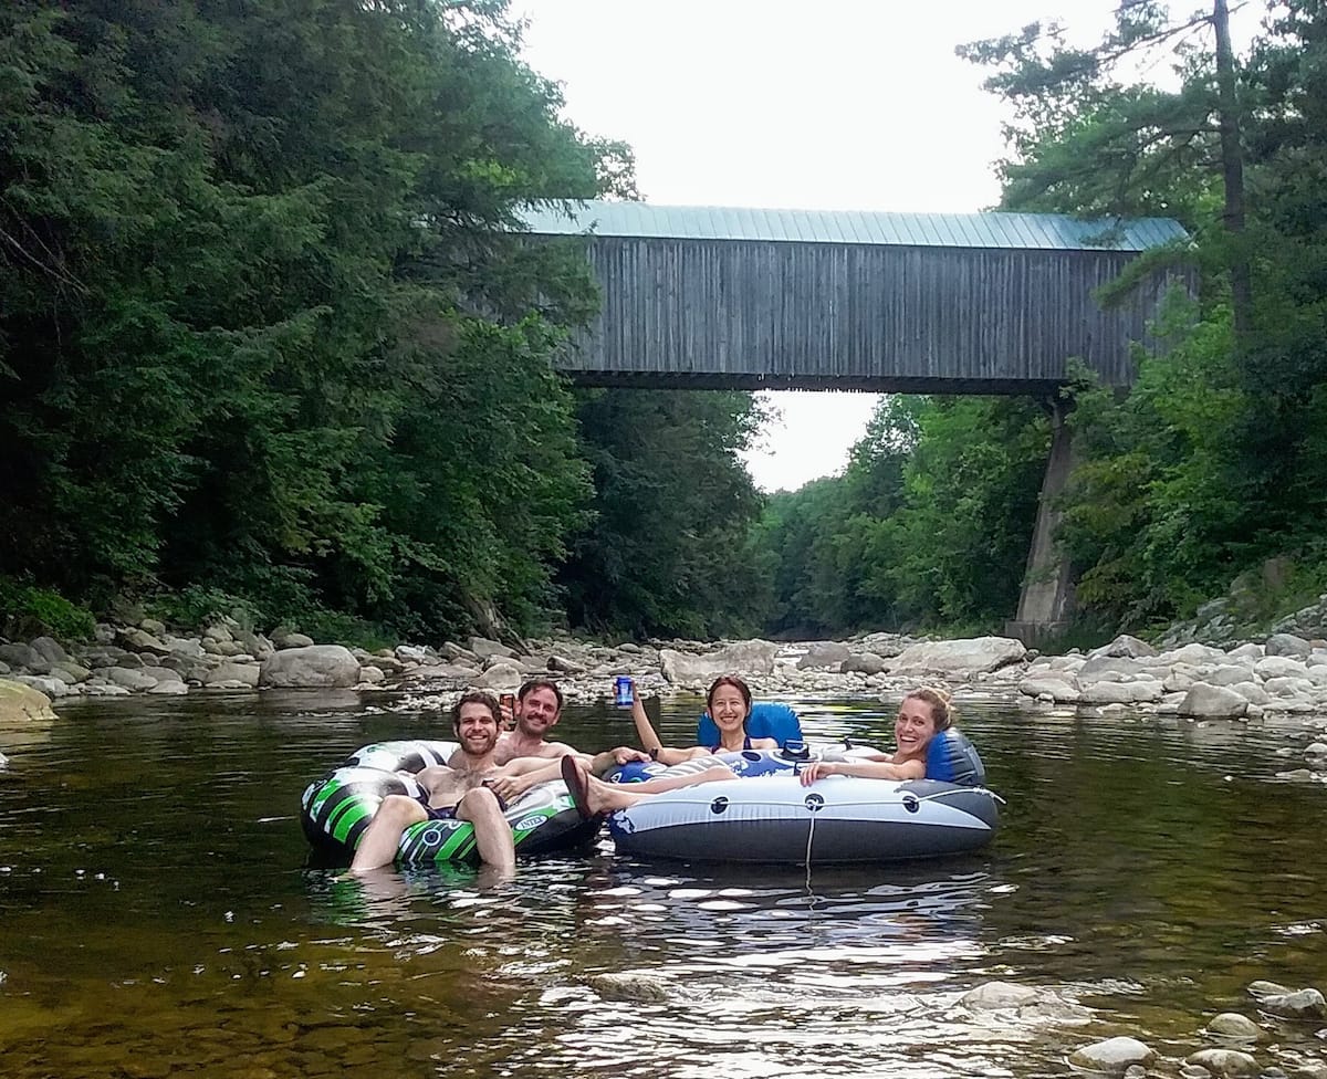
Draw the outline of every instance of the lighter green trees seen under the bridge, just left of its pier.
M770 500L771 629L1009 617L1048 450L1048 418L1026 399L884 398L843 476Z

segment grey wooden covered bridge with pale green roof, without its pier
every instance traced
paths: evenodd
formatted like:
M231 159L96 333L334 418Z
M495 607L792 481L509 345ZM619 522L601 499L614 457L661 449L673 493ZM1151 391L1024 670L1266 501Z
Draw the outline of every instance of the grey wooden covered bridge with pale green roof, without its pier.
M547 203L602 293L561 366L593 385L1046 393L1079 357L1133 380L1132 341L1170 283L1104 309L1096 289L1177 222Z

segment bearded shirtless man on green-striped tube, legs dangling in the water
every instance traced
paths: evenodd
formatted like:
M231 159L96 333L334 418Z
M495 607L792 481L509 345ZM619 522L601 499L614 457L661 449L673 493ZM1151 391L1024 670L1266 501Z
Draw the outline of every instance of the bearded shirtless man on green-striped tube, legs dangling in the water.
M512 792L516 780L522 780L522 790L527 790L533 783L556 779L559 767L556 759L547 756L522 758L499 766L499 714L492 694L470 691L460 695L451 709L451 725L460 750L447 766L433 766L415 776L429 792L429 804L423 806L403 794L384 798L360 836L350 863L352 873L368 873L391 864L401 835L411 824L451 819L474 824L475 845L484 864L502 876L515 872L516 845L503 815L503 799Z

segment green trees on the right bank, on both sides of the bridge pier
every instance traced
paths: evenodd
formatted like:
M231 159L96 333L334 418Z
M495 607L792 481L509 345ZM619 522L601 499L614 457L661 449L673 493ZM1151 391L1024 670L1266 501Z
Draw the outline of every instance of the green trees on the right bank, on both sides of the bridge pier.
M1001 208L1172 216L1196 301L1158 319L1120 399L1072 386L1078 466L1059 539L1087 624L1186 616L1289 556L1327 588L1327 4L1265 5L1246 62L1223 0L1124 3L1099 46L1032 24L962 46L1013 106ZM1140 82L1169 77L1172 89ZM1119 284L1127 288L1128 280ZM1104 301L1109 301L1104 296ZM841 478L770 502L775 628L993 628L1016 605L1050 429L1026 399L890 398Z

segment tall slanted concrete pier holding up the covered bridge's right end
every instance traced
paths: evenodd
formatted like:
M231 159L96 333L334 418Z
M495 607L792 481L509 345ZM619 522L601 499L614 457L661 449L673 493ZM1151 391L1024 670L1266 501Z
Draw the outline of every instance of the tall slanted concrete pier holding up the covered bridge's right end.
M1074 611L1074 577L1068 559L1055 544L1055 530L1060 523L1056 503L1068 484L1074 467L1074 446L1070 425L1066 422L1064 402L1051 406L1054 435L1051 458L1046 462L1042 494L1036 507L1036 527L1032 530L1032 548L1027 555L1023 591L1018 597L1018 614L1005 622L1005 636L1016 637L1026 645L1035 645L1068 626Z

